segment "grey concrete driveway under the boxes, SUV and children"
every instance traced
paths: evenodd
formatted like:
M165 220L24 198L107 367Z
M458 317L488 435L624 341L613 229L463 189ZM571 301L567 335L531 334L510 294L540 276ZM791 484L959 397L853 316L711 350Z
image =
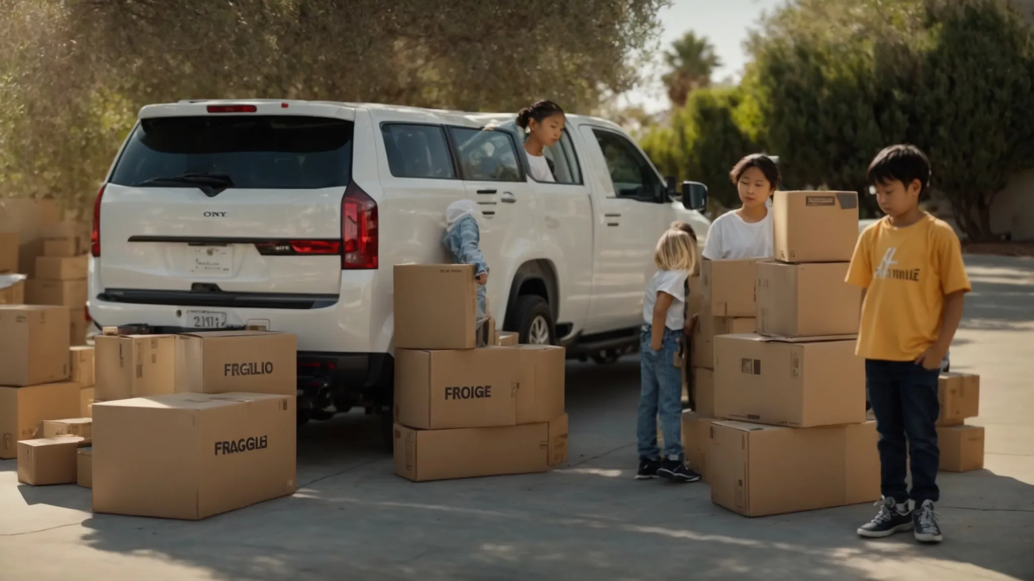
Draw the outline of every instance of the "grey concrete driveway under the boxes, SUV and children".
M941 546L858 540L870 506L748 519L705 484L633 480L625 360L569 367L570 463L543 475L414 484L347 417L300 432L293 497L184 522L93 516L0 462L0 579L1034 579L1034 262L966 259L952 368L982 375L986 469L942 475Z

